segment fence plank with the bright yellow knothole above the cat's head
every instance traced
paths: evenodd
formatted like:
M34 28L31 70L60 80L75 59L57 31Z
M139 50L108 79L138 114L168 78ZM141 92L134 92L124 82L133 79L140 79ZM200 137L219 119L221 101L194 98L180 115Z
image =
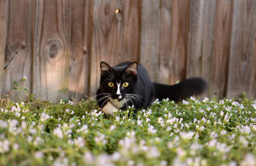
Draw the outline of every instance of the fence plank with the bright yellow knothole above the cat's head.
M94 1L90 89L99 87L100 61L116 65L138 61L140 1Z

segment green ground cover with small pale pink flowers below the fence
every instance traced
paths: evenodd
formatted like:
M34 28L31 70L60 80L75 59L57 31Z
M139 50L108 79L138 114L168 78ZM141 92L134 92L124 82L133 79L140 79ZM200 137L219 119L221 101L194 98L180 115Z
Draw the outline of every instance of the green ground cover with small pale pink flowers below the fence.
M256 101L0 103L0 165L256 165Z

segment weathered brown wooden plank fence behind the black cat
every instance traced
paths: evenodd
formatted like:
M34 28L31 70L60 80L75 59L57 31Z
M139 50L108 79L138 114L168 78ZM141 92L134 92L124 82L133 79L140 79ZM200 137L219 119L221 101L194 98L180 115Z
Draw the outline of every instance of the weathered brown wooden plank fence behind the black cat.
M93 96L100 61L138 61L156 82L256 96L255 0L0 0L0 94ZM22 82L24 75L27 80Z

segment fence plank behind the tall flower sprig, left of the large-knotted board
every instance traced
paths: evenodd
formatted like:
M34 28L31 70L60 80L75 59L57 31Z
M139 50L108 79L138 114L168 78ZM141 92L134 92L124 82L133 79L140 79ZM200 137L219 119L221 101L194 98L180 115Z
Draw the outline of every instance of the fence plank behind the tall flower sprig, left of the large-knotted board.
M31 90L31 61L33 41L33 5L34 1L8 1L8 23L5 50L5 79L4 94L11 93L16 99L20 92L13 90L13 82ZM22 81L26 76L27 80Z

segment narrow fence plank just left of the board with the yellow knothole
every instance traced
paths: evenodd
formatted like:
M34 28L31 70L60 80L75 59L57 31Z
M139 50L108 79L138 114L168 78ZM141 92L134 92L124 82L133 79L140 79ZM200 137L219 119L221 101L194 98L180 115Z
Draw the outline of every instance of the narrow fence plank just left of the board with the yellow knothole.
M71 1L69 98L86 98L89 88L93 1Z

